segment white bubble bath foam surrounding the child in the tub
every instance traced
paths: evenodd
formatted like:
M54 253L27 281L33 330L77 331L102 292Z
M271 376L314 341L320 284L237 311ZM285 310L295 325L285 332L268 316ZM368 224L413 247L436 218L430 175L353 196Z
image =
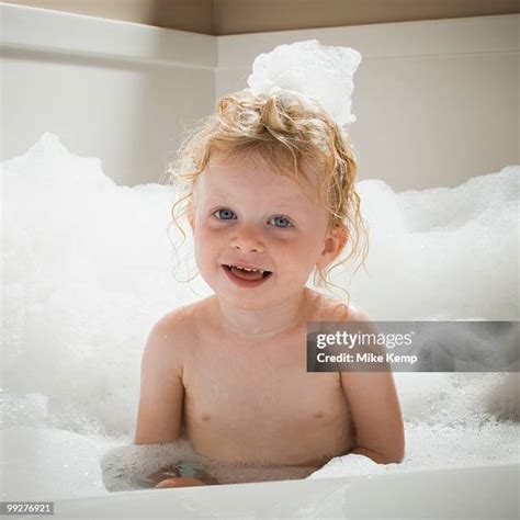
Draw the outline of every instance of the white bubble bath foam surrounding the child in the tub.
M360 182L371 249L353 303L380 320L518 320L519 173L398 194ZM173 199L159 184L115 185L53 134L3 163L3 500L106 494L101 460L106 478L114 456L139 471L173 456L131 445L148 331L210 294L200 278L196 294L173 279ZM518 374L396 374L396 384L405 461L348 455L312 478L519 462Z

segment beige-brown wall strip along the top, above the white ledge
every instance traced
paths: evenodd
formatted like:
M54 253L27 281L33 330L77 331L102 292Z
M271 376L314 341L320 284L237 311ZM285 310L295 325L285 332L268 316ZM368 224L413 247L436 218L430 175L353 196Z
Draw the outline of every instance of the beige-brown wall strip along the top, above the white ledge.
M5 0L226 35L520 12L518 0Z

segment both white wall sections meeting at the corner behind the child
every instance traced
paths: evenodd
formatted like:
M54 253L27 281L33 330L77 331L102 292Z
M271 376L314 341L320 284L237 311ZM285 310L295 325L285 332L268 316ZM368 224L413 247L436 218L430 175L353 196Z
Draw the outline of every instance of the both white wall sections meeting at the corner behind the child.
M257 54L316 37L363 54L350 126L361 179L453 186L520 162L519 15L205 36L1 9L3 159L50 131L118 183L157 182L182 129L246 87Z

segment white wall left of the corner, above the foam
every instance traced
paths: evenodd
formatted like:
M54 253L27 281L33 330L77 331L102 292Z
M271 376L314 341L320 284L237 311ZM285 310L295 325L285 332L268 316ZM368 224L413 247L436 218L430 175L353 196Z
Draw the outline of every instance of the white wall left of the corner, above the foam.
M46 131L120 184L158 182L214 108L212 36L1 5L2 160Z

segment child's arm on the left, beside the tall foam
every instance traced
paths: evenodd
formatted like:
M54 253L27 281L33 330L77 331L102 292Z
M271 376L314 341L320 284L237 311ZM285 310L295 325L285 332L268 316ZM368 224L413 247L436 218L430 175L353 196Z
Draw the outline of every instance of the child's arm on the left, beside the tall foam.
M135 444L172 442L181 436L182 335L168 317L151 329L143 353Z

